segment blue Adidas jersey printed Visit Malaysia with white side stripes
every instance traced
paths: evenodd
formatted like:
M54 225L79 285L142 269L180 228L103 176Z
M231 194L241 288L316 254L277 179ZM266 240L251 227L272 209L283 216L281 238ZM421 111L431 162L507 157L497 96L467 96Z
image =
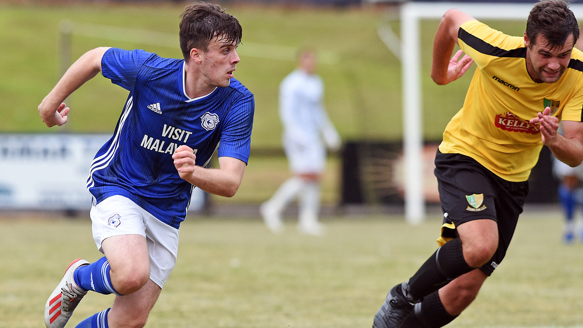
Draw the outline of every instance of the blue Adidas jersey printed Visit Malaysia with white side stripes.
M87 189L94 204L121 195L160 221L178 228L192 184L182 180L172 155L180 145L195 150L206 166L215 149L247 163L255 103L236 79L226 88L190 99L184 90L184 60L143 50L110 48L101 74L129 90L114 135L95 156Z

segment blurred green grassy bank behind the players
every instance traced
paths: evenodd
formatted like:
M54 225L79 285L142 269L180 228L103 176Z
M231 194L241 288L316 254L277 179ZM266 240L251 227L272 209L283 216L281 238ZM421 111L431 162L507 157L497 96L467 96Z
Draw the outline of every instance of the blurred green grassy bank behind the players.
M69 122L47 128L37 106L59 77L59 22L93 23L178 33L178 4L0 4L0 99L4 110L0 132L104 132L114 130L128 92L97 76L68 99ZM325 83L325 105L343 140L398 141L402 135L401 64L380 40L377 27L391 25L399 34L399 22L388 20L396 8L352 9L282 8L258 5L227 5L227 12L243 26L241 62L235 77L255 95L252 155L281 153L282 125L278 114L280 81L295 67L293 60L274 60L245 55L245 43L310 47L338 58L320 64ZM525 22L494 20L496 29L521 35ZM422 81L424 138L441 139L449 119L462 104L475 67L458 81L435 85L430 77L431 45L438 20L422 22ZM181 57L174 48L149 46L73 35L72 60L99 46L142 48L164 57ZM274 152L275 151L275 152ZM338 158L329 161L323 184L323 201L338 200ZM265 174L265 170L272 174ZM258 203L289 176L282 157L252 156L240 192L219 202Z

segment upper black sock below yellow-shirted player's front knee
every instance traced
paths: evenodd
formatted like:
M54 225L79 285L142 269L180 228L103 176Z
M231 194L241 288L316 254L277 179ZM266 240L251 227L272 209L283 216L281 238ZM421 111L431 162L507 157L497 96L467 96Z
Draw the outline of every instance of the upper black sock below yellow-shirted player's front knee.
M422 299L473 269L463 259L461 240L452 239L439 247L409 279L409 296L413 301Z

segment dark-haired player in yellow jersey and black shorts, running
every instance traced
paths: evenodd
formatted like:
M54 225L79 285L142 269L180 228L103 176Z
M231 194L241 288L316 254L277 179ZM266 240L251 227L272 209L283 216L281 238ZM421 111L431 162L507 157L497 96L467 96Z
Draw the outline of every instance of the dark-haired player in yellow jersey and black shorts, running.
M445 85L477 69L436 155L444 224L440 247L389 291L374 328L442 327L475 299L504 259L543 144L570 166L583 160L583 53L566 2L538 2L524 36L450 9L433 44L431 78ZM461 50L450 60L455 44ZM467 55L457 61L461 51ZM557 133L563 120L564 135Z

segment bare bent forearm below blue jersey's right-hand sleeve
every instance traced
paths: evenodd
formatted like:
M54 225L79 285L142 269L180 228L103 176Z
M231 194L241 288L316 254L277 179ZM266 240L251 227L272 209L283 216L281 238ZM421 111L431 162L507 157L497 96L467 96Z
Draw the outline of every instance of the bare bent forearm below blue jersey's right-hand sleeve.
M241 176L224 169L205 169L196 166L186 179L189 183L206 191L224 197L233 197L241 184Z

